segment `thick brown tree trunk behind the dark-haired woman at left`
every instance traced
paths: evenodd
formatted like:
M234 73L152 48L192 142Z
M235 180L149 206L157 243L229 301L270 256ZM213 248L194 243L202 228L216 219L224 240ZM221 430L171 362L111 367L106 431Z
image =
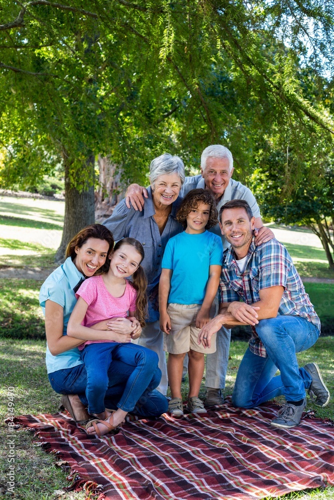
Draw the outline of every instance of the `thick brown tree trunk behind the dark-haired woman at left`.
M57 263L64 262L66 247L73 236L86 225L95 223L94 156L89 157L86 163L92 185L87 184L87 189L82 192L71 186L69 168L70 165L65 162L65 218L62 241L55 256Z

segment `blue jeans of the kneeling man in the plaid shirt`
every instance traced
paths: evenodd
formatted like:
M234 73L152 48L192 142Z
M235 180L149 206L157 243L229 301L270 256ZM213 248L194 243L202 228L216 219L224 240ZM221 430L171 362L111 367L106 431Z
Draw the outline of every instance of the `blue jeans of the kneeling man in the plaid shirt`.
M256 332L268 356L258 356L247 348L235 380L233 405L252 408L281 394L287 401L303 399L311 377L298 368L295 353L315 343L318 328L300 316L278 315L261 319ZM280 375L274 376L277 369Z

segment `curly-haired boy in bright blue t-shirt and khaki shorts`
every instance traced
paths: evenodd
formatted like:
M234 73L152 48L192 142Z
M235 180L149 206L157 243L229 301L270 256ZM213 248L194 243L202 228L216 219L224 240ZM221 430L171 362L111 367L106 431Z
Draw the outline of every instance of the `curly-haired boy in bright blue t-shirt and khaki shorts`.
M182 201L176 218L185 230L171 238L162 259L159 283L160 328L165 332L169 353L167 372L172 398L168 411L183 415L181 379L183 359L188 352L189 395L187 409L204 413L198 397L204 373L204 353L215 352L197 343L199 330L214 316L223 247L221 238L207 231L217 223L213 195L206 189L193 189ZM168 306L167 306L168 304ZM213 339L213 341L212 341Z

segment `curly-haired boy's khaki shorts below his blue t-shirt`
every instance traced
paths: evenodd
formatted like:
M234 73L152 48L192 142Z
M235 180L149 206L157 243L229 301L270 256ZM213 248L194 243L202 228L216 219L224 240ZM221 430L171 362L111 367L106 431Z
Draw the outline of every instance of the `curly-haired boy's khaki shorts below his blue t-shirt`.
M169 334L164 333L164 350L171 354L183 354L190 349L196 352L211 354L216 351L216 334L211 337L211 347L198 345L197 336L200 328L196 328L196 316L200 304L168 304L167 312L170 317L172 329ZM215 304L210 309L210 319L216 312Z

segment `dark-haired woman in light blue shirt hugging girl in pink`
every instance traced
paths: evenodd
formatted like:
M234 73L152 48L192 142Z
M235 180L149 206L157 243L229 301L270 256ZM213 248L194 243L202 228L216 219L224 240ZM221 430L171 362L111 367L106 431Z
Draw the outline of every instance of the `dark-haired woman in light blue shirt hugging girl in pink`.
M40 304L45 315L49 380L53 389L63 394L63 405L78 422L87 420L89 415L86 410L88 402L85 395L87 374L77 346L83 340L96 339L94 330L97 329L99 338L109 341L122 341L122 332L132 332L132 336L136 336L136 332L140 331L139 322L136 324L126 318L117 318L112 322L107 320L94 325L92 333L87 333L85 338L80 340L69 337L66 333L69 317L76 303L75 292L86 277L107 270L109 265L107 257L113 246L113 235L105 226L93 224L82 229L70 241L64 264L51 273L40 291ZM118 360L112 361L106 395L108 408L117 408L126 381L133 370L131 361L129 364ZM166 398L153 390L158 385L160 377L161 372L157 368L150 383L144 387L147 396L145 403L136 405L134 413L158 416L167 410ZM141 395L139 394L138 399Z

